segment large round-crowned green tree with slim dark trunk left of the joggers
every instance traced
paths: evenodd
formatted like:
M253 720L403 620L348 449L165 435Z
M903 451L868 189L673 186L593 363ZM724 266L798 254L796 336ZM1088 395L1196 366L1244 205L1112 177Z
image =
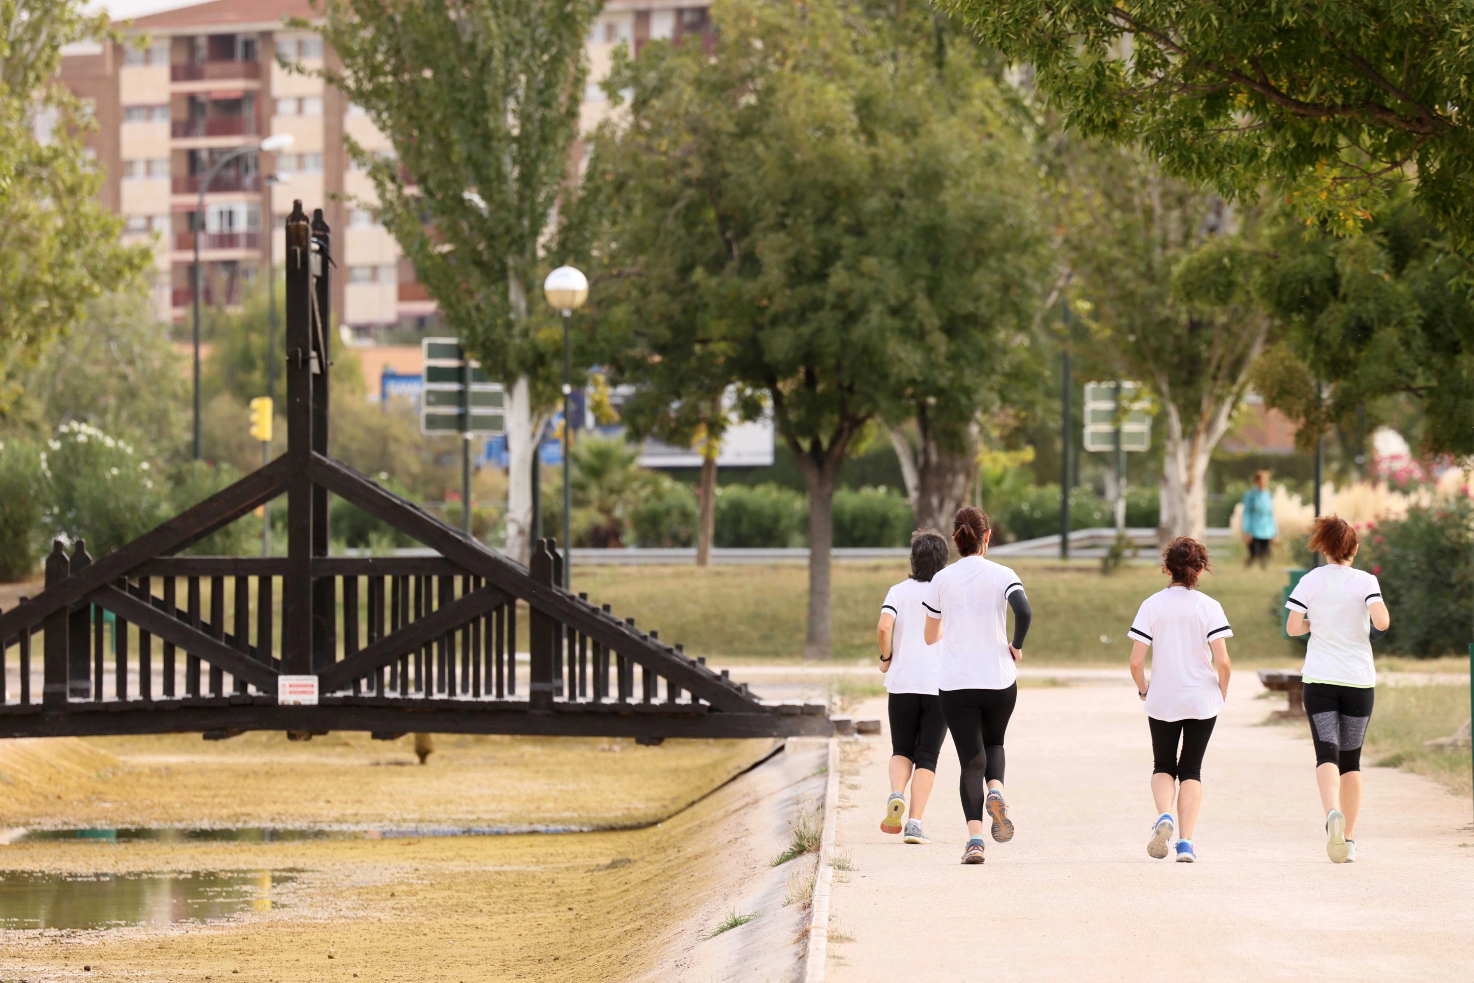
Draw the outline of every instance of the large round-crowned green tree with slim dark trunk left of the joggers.
M618 202L603 261L681 301L660 329L640 311L631 358L700 352L719 365L708 399L727 380L765 392L809 489L805 651L828 656L839 469L871 421L927 398L929 363L976 371L954 380L974 396L989 385L1035 233L991 83L939 57L908 19L923 15L733 0L712 16L709 52L652 44L616 65L606 88L628 109L588 169L612 190L588 193ZM1010 236L1008 259L979 268Z

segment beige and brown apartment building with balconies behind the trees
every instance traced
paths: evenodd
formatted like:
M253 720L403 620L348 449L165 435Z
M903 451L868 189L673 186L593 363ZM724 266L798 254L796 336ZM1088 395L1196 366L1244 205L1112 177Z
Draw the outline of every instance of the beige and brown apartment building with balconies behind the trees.
M196 223L203 301L230 307L268 264L280 264L282 220L292 199L302 199L320 205L333 228L340 323L366 340L385 329L432 329L435 302L394 237L374 223L373 184L343 137L385 153L392 144L336 88L282 68L279 55L305 68L333 59L318 35L286 28L284 18L311 21L314 12L307 0L211 0L139 18L121 44L68 53L62 81L94 108L97 130L88 141L106 174L102 197L124 217L125 242L155 243L161 315L189 317ZM610 0L588 34L585 131L607 111L597 80L609 71L615 46L638 52L650 40L709 29L705 6ZM146 47L139 47L140 38ZM290 134L292 146L234 156L203 189L199 214L208 171L276 134ZM582 144L575 153L582 155Z

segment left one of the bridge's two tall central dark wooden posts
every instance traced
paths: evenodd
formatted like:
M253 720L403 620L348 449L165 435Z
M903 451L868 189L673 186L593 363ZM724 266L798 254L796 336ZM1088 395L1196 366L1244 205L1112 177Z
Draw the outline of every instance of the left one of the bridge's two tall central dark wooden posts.
M312 228L302 202L286 217L287 573L282 578L282 672L312 672Z

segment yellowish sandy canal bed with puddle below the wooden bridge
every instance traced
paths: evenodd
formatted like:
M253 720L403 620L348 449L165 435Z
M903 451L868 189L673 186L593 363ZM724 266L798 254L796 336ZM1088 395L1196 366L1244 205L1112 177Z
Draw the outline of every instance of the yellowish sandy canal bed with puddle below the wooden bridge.
M789 780L762 791L747 778L724 787L777 741L640 747L441 735L436 744L422 768L408 737L0 743L0 828L10 828L0 837L10 840L0 846L0 877L234 871L262 886L254 906L217 921L0 931L0 979L638 979L682 939L694 943L693 918L724 911L734 856L752 871L766 867L777 840L753 842L744 821L756 803L777 815L792 797ZM83 842L15 833L37 827L397 836ZM444 827L634 828L402 834Z

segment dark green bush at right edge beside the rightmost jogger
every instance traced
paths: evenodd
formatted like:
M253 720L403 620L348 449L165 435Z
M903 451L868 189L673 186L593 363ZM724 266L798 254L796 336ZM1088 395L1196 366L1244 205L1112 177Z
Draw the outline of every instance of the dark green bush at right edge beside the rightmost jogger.
M1356 566L1381 582L1391 628L1378 650L1405 656L1468 651L1474 618L1474 503L1459 495L1362 532Z

